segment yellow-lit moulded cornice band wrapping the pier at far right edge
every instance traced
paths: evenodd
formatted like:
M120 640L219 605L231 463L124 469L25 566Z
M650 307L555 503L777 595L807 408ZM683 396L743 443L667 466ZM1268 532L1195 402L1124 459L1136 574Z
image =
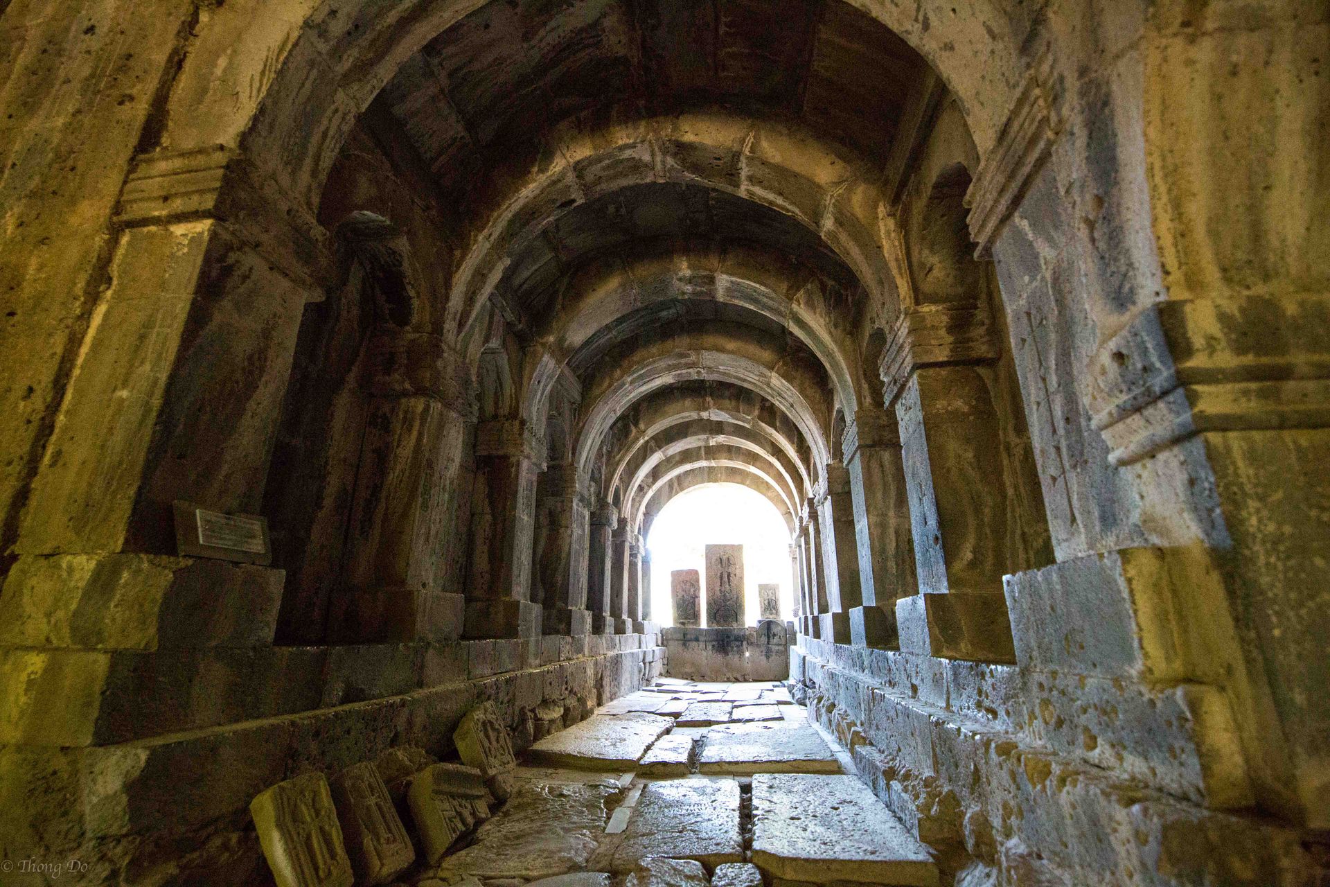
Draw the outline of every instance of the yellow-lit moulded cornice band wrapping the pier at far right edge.
M1091 411L1115 465L1206 431L1330 427L1330 297L1160 302L1095 359Z

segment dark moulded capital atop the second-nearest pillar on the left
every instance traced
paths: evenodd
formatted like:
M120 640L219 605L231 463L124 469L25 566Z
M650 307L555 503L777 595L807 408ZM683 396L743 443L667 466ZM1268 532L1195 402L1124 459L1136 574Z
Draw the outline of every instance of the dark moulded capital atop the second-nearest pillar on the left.
M380 398L430 398L475 420L462 358L430 332L382 328L366 348L364 387Z

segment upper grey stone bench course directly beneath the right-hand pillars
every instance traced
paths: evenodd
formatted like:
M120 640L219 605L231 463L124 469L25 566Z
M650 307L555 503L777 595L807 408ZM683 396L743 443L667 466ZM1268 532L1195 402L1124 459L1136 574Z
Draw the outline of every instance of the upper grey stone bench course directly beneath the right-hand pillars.
M1213 686L1150 688L1123 678L802 644L791 650L791 680L823 690L884 735L923 737L916 715L963 722L1081 766L1124 771L1196 803L1252 803L1228 698ZM928 747L931 739L919 738L914 766L924 773L932 759Z

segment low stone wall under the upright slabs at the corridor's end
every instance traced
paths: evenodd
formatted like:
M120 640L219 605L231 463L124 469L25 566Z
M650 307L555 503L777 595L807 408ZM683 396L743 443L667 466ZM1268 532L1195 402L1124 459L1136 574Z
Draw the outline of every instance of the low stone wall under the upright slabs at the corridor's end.
M794 633L781 622L755 628L666 628L665 674L689 681L783 681Z

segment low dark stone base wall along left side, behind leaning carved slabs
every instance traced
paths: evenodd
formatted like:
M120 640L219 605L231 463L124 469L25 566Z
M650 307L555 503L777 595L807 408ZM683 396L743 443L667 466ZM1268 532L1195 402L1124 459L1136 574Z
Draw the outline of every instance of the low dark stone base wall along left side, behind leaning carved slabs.
M98 745L61 747L72 743L53 735L78 707L64 688L5 718L0 856L78 859L89 884L218 887L271 883L249 803L277 782L331 777L394 746L447 759L458 722L484 699L523 750L548 730L537 706L563 709L567 726L664 665L656 637L640 634L548 636L535 652L516 640L213 648L174 657L196 677L162 697L166 657L141 653L136 672L130 654L106 656L121 677L105 688L96 729L109 733ZM41 719L52 735L37 735ZM4 883L47 882L7 874Z

